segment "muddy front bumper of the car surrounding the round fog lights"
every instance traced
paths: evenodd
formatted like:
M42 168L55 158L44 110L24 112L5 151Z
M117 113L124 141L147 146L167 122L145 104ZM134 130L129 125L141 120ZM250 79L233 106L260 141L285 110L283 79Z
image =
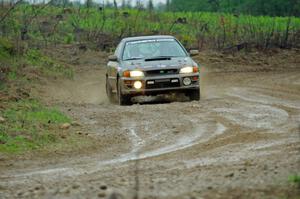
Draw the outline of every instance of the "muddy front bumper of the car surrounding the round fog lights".
M183 79L190 78L191 84L184 85ZM186 92L188 90L199 89L199 73L193 74L176 74L176 75L162 75L155 77L142 78L121 78L121 87L123 95L157 95L167 94L171 92ZM136 89L133 84L135 81L142 82L142 88Z

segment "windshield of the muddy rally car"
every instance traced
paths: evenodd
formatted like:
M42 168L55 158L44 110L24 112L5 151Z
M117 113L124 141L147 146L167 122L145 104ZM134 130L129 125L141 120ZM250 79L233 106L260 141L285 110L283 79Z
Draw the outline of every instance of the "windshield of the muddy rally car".
M127 42L123 60L186 56L183 47L175 39L155 39Z

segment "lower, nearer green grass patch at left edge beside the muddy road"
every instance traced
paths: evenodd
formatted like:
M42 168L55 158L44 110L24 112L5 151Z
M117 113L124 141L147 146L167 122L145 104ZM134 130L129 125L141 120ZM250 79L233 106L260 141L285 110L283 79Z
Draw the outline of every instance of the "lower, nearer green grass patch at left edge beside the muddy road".
M70 118L55 108L46 108L36 100L10 102L0 112L6 119L0 124L0 152L20 153L60 141L59 125Z

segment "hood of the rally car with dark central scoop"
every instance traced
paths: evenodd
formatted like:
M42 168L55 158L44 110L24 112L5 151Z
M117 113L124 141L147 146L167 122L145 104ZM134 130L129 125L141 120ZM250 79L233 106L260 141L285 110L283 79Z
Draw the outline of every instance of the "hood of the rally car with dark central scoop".
M159 61L123 61L121 63L122 70L160 70L160 69L179 69L185 66L195 66L196 63L190 57L172 58L171 60Z

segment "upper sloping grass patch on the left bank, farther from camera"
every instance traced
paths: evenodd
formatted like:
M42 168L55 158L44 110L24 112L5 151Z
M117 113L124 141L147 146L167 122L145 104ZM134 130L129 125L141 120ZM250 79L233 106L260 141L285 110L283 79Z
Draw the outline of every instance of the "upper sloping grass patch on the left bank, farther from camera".
M4 76L2 78L19 81L26 79L29 73L45 77L73 78L73 68L50 58L39 49L24 47L25 49L20 53L16 48L12 40L0 37L0 71L4 70L1 71L1 75Z

